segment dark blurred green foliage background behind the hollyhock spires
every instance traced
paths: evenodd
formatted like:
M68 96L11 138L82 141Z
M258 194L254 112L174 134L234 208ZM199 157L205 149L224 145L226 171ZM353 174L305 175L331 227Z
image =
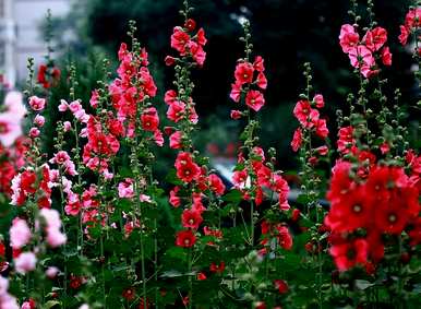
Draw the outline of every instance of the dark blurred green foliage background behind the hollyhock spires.
M243 55L239 20L249 19L255 55L265 59L268 78L266 106L262 109L261 143L278 151L282 168L294 166L289 146L297 127L292 108L299 90L303 88L302 63L310 61L314 69L316 93L326 102L326 117L330 132L336 132L335 110L347 109L347 94L358 85L348 57L342 54L338 35L341 24L351 23L348 16L348 0L192 0L195 8L192 17L204 27L208 38L207 59L203 70L195 73L194 99L201 116L202 129L197 133L197 146L226 152L237 143L238 121L229 119L229 110L236 104L229 99L236 60ZM362 1L360 1L362 2ZM408 50L398 43L399 25L410 5L409 0L377 0L375 12L378 25L388 31L388 45L393 52L393 67L385 69L389 80L387 92L395 87L402 92L402 102L414 99L416 81L411 73L412 59ZM117 50L121 41L128 41L128 21L137 22L137 37L149 52L151 70L159 87L159 96L171 87L172 68L164 64L165 56L171 54L172 27L181 24L177 13L181 0L79 0L65 19L55 19L55 37L61 51L71 51L77 62L82 87L76 95L88 102L88 88L95 82L95 68L105 55L117 68ZM361 5L364 15L364 7ZM61 34L71 31L74 35L67 41ZM89 56L91 55L91 56ZM93 61L92 55L96 60ZM94 80L91 79L94 76ZM392 86L393 85L393 86ZM392 96L390 96L392 97ZM412 97L412 98L411 98ZM164 102L157 106L165 112ZM164 114L161 114L164 115ZM164 118L164 117L163 117ZM412 116L417 120L417 116ZM417 127L417 126L416 126ZM334 134L330 134L335 139ZM211 146L208 143L213 143ZM164 153L164 156L167 154ZM163 165L164 168L165 165Z

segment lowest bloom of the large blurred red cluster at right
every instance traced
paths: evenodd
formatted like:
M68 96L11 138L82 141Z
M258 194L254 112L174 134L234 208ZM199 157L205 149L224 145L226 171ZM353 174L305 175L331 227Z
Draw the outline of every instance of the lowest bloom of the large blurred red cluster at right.
M335 243L330 247L330 254L339 271L347 271L354 265L366 263L369 245L365 239L359 238L350 242Z

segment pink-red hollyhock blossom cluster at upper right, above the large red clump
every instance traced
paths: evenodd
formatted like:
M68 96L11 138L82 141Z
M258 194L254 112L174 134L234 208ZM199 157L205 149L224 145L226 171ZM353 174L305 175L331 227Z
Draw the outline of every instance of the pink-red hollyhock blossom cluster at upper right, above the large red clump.
M340 28L339 44L342 51L348 55L351 66L359 69L366 79L378 73L375 62L377 56L384 66L392 66L392 54L385 46L386 40L387 32L383 27L368 29L362 39L357 26L345 24Z

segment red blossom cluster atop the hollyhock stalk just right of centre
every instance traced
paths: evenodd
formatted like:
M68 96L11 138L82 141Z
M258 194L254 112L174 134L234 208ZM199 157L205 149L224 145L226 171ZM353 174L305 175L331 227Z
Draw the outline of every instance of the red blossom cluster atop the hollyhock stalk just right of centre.
M239 103L244 94L245 105L258 111L265 105L262 91L267 87L267 79L264 72L264 60L261 56L256 56L253 63L240 59L234 71L236 81L231 85L231 99ZM232 119L239 119L241 116L239 110L231 111Z

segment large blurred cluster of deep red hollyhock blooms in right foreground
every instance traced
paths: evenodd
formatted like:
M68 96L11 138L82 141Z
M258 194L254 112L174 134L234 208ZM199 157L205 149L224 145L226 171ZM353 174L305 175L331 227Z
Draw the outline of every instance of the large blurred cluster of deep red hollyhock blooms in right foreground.
M404 230L420 238L419 188L401 167L372 165L363 181L350 176L352 165L338 161L333 168L327 194L332 206L325 217L330 229L330 254L340 271L354 265L370 266L383 259L383 235ZM411 227L412 226L412 227ZM363 229L365 236L358 230Z

